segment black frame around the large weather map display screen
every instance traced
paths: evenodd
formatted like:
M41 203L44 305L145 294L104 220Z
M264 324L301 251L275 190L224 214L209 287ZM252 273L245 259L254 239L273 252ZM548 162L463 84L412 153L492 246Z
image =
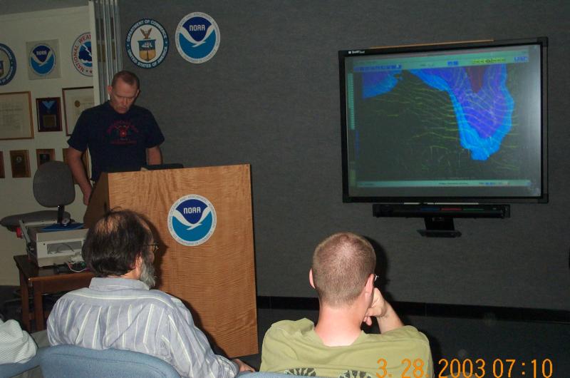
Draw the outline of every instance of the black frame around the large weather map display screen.
M539 45L541 59L541 195L536 197L509 197L509 196L481 196L481 197L450 197L441 196L368 196L351 195L349 193L348 174L348 124L347 124L347 98L346 98L346 58L353 56L374 56L398 53L424 53L437 51L455 51L469 48L493 48L504 46ZM422 44L406 46L389 46L385 48L361 48L338 51L340 106L341 106L341 154L342 154L342 180L343 203L548 203L548 150L547 150L547 51L548 38L512 39L504 41L462 41L450 44Z

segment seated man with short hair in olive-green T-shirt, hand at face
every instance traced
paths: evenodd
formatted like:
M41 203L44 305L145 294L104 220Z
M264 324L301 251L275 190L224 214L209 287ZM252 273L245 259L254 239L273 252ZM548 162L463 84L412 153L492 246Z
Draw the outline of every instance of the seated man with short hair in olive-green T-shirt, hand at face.
M374 287L376 256L368 240L337 233L316 247L309 282L320 310L307 319L276 322L266 332L261 371L313 377L433 377L430 344L404 326ZM376 318L381 334L362 322Z

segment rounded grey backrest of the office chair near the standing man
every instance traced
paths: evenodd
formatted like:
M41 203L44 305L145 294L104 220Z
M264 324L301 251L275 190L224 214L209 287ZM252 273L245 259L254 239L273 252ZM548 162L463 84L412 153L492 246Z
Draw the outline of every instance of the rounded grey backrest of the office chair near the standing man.
M33 196L46 208L69 205L76 199L73 175L66 163L48 161L33 175Z

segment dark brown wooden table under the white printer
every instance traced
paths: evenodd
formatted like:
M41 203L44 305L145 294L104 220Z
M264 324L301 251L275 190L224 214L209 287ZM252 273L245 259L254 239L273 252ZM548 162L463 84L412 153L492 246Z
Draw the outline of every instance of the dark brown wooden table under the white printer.
M66 292L81 287L88 287L93 273L58 273L55 267L38 267L27 255L14 256L20 272L20 290L22 300L22 322L28 332L30 327L29 293L33 292L33 317L36 331L45 329L42 294Z

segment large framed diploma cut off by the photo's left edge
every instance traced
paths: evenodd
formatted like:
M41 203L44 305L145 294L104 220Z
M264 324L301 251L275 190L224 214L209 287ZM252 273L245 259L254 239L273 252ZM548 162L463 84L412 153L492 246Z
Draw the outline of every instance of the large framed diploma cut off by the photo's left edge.
M31 138L30 92L0 93L0 140Z

